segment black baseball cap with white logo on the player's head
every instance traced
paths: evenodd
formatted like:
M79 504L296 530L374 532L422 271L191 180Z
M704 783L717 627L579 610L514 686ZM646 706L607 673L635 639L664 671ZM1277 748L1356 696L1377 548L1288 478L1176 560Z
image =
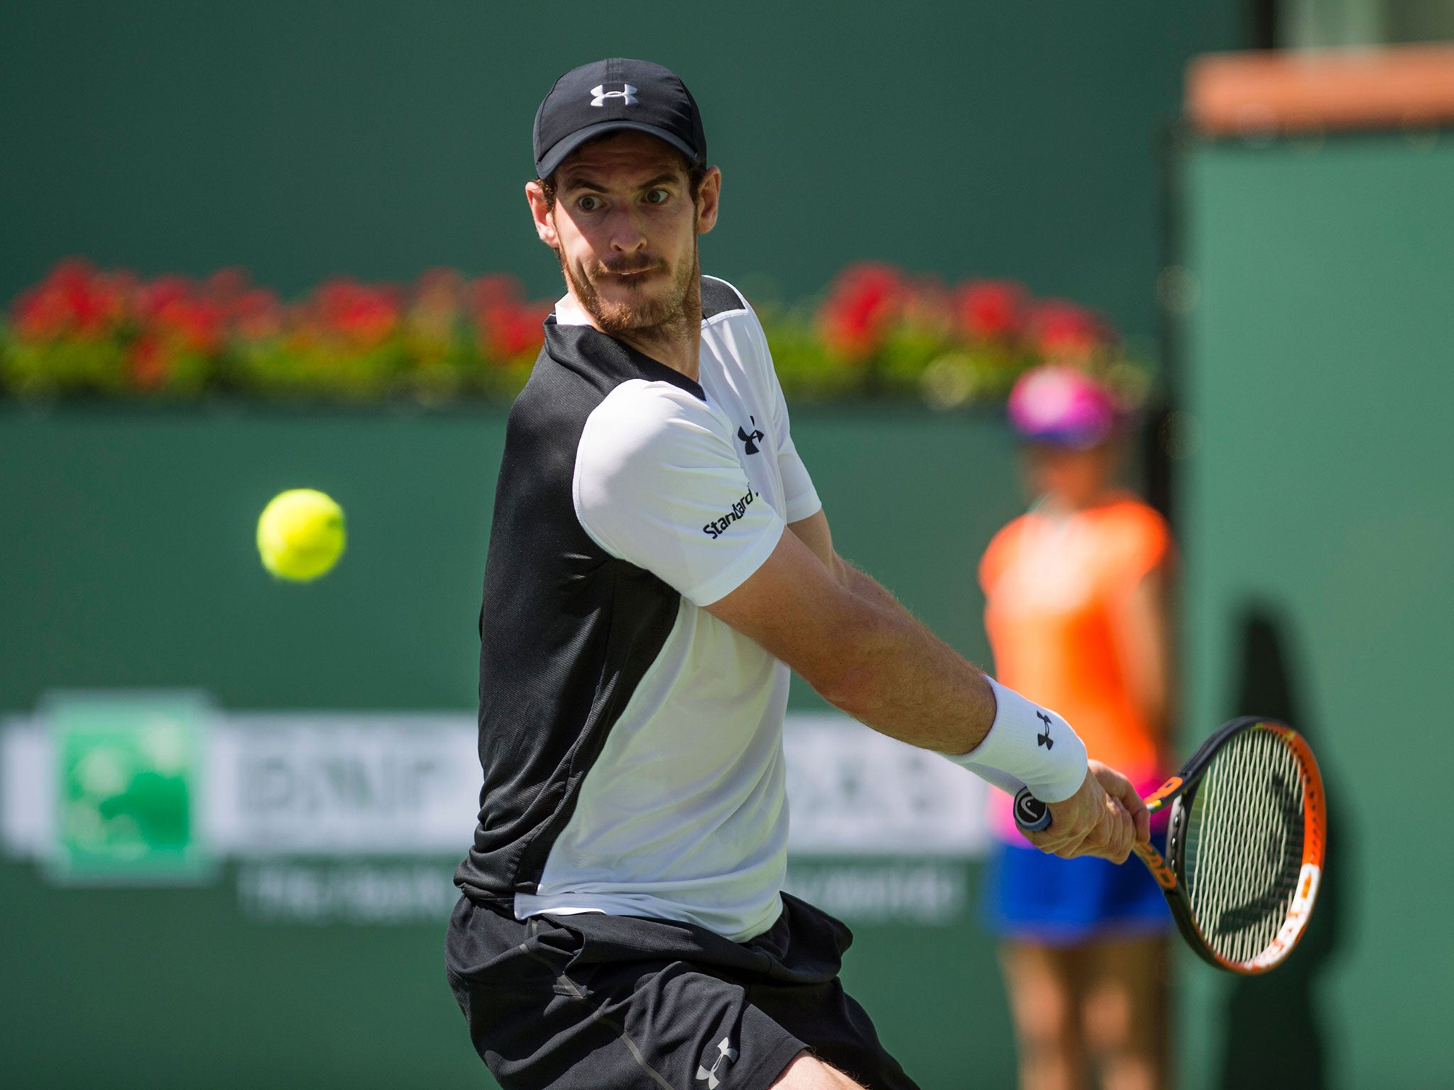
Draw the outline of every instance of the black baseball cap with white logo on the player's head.
M707 161L701 110L676 73L612 57L571 68L541 102L535 112L535 177L550 177L587 140L616 129L664 140L694 167Z

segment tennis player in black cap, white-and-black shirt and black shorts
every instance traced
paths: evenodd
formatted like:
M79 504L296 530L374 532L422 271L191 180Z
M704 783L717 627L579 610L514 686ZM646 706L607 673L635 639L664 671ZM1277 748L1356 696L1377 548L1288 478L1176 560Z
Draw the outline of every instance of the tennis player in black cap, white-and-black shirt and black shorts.
M781 892L788 671L1005 785L1037 844L1124 860L1131 783L833 551L752 307L702 276L696 103L666 68L555 81L526 187L566 294L510 410L480 613L480 823L446 958L507 1090L915 1083Z

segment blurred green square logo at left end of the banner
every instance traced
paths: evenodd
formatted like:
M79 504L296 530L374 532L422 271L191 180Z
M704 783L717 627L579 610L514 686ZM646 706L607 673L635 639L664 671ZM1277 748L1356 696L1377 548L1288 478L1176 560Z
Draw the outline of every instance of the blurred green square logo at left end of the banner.
M57 868L76 882L208 873L198 828L208 706L189 693L60 695L47 706L60 772Z

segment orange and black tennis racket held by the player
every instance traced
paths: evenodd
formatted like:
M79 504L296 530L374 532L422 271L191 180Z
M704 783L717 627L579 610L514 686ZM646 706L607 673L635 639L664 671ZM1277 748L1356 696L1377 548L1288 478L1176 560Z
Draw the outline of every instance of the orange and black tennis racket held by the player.
M1328 814L1323 779L1303 735L1274 719L1224 724L1146 799L1172 808L1166 856L1137 844L1186 943L1218 969L1280 965L1317 900ZM1015 823L1050 827L1050 810L1022 789Z

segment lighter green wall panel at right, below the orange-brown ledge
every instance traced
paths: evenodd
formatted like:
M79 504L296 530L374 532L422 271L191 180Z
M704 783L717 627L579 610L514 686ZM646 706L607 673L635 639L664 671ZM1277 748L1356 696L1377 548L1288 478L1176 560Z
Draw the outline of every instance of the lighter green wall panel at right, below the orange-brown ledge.
M1451 1086L1454 138L1202 144L1185 183L1186 718L1288 715L1332 808L1307 949L1195 978L1185 1086Z

